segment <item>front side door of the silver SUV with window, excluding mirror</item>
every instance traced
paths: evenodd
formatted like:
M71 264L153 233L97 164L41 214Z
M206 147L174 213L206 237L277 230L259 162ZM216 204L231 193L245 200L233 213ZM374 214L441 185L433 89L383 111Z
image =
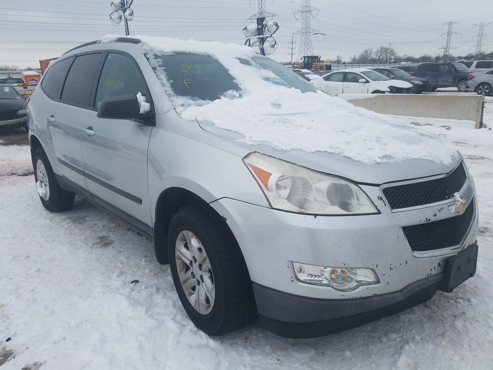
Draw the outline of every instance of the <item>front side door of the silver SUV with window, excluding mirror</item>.
M149 230L147 147L152 130L130 119L98 118L105 98L139 92L151 103L137 62L128 54L108 52L95 84L92 110L82 117L84 172L93 199L127 222Z

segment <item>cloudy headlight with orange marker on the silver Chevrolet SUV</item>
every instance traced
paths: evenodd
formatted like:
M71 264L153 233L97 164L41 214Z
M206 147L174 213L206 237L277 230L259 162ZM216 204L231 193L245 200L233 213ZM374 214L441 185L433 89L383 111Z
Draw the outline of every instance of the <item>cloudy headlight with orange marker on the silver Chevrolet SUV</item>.
M316 215L368 215L379 211L361 188L260 153L243 159L274 209Z

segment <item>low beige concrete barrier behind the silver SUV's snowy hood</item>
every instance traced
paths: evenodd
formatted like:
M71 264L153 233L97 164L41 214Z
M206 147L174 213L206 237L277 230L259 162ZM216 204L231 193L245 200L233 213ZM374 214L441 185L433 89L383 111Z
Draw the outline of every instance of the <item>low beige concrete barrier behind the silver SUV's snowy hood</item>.
M483 124L481 95L339 94L356 107L384 114L410 117L450 118Z

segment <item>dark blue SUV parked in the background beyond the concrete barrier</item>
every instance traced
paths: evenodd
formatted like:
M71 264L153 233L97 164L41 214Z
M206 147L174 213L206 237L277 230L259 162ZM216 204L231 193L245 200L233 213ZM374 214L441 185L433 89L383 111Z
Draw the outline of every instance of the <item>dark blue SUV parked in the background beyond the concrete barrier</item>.
M462 63L423 63L413 73L414 76L425 77L431 81L431 91L438 87L457 86L458 91L465 91L465 84L471 71Z

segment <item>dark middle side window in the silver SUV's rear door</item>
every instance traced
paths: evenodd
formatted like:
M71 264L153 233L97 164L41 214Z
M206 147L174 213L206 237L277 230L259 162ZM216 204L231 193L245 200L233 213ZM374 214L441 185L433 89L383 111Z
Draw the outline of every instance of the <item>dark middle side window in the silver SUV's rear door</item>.
M62 101L89 106L91 91L101 62L101 53L75 58L62 91Z

